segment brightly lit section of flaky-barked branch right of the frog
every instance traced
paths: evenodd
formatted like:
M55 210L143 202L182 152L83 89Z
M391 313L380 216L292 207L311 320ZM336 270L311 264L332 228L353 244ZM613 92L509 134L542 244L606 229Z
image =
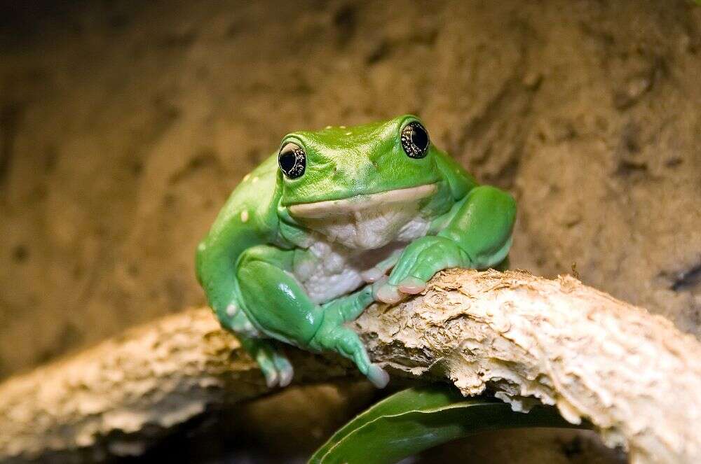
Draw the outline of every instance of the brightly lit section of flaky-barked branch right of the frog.
M356 321L377 360L437 369L465 395L536 397L590 419L633 463L697 463L701 344L672 323L566 276L445 272L424 297ZM524 398L525 397L525 398Z

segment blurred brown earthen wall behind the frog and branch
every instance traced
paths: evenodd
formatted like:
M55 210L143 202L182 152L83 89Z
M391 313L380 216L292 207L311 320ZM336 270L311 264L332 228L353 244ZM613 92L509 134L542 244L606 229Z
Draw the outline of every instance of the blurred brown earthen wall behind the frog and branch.
M4 2L0 376L203 304L281 136L406 112L517 197L513 267L699 337L700 76L684 0Z

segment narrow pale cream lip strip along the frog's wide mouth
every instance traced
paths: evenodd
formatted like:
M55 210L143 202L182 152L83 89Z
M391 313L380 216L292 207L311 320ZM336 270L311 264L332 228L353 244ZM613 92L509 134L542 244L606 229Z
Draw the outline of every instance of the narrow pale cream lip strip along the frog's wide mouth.
M418 187L400 188L386 192L372 193L369 195L355 195L354 197L331 199L323 202L293 204L288 207L290 214L297 218L327 218L329 216L346 216L365 209L388 204L407 204L430 197L437 192L435 183L418 185Z

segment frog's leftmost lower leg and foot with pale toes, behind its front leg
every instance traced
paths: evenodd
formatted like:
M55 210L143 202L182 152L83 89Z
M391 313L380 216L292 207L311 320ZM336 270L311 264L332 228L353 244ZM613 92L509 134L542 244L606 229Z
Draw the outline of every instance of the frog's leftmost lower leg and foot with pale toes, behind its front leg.
M292 363L280 352L275 342L265 339L238 304L226 308L224 327L236 334L243 348L258 363L268 388L288 386L294 377Z

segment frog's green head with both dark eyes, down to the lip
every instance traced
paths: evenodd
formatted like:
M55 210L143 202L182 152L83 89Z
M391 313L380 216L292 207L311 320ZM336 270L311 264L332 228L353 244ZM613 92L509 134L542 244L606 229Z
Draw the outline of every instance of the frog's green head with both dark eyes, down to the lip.
M437 149L420 120L403 115L356 127L294 132L280 143L281 206L319 218L368 204L433 195Z

